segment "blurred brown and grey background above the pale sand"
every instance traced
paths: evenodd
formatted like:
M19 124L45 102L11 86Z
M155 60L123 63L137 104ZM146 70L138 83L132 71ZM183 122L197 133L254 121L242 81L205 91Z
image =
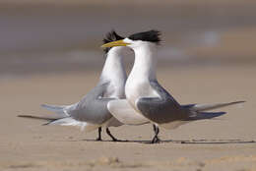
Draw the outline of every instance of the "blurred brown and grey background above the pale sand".
M255 19L251 0L0 0L0 79L99 72L111 29L159 29L160 67L255 65Z

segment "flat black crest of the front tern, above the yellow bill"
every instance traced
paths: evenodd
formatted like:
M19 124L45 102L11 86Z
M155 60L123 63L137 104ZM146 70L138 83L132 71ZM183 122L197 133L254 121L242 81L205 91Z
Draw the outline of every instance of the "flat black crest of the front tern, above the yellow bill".
M132 40L150 41L160 44L160 31L152 29L145 32L138 32L130 35L128 38Z

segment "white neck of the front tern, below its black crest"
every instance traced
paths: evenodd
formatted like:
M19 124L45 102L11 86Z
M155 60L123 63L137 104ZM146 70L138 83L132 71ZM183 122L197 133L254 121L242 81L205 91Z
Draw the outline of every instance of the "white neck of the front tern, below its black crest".
M134 49L135 61L131 71L131 77L149 81L156 80L157 47L154 44L146 44Z

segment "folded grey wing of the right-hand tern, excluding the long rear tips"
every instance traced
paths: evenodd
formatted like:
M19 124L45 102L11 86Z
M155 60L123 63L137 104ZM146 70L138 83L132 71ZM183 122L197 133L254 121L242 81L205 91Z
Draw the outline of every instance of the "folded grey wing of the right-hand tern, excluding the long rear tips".
M157 81L151 82L160 97L142 97L136 102L141 113L153 122L163 124L184 120L189 113Z

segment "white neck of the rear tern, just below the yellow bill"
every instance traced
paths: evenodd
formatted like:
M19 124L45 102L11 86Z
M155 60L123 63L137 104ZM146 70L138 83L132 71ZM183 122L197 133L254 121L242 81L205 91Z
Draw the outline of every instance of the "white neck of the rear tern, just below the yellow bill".
M126 72L120 52L113 48L106 55L100 79L110 82L126 80Z

